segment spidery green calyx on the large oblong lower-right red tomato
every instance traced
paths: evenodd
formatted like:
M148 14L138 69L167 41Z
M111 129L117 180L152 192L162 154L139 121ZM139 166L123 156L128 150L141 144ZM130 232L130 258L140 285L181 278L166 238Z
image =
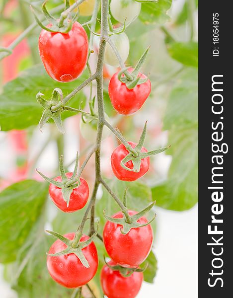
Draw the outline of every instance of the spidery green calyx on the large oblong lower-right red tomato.
M122 225L122 228L120 229L120 231L123 235L128 234L132 228L139 228L139 227L143 227L148 224L151 224L156 217L156 214L155 214L153 218L150 221L148 221L146 224L138 223L138 220L141 219L143 216L145 216L155 206L156 201L153 201L149 206L141 210L139 213L132 216L129 215L129 212L128 212L129 210L127 208L127 191L128 191L128 187L125 190L124 198L123 198L123 206L121 208L121 212L123 214L122 218L111 218L105 214L105 210L103 211L103 215L107 221L114 224Z

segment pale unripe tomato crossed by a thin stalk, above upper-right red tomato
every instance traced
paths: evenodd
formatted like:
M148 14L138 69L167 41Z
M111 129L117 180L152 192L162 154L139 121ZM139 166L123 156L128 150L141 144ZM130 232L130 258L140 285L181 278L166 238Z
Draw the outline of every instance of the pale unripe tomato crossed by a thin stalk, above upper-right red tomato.
M115 44L121 56L121 59L123 60L123 62L125 62L130 52L130 42L128 36L125 34L125 32L123 32L120 34L114 34L110 36L110 38L112 42ZM109 43L106 44L104 62L115 67L120 66L119 60L117 59L117 56L114 53L111 46L109 45Z

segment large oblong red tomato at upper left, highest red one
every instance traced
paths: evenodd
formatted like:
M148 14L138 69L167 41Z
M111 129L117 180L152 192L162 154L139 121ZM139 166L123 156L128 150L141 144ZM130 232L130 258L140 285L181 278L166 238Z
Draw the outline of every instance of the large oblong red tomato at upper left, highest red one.
M88 37L78 22L66 34L43 29L39 36L39 53L47 73L53 79L70 82L81 75L86 66Z

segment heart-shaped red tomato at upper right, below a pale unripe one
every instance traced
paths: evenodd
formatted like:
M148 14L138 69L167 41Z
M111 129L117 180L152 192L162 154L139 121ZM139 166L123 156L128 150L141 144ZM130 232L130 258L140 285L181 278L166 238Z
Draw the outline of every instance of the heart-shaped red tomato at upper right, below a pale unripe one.
M130 73L133 69L128 70ZM151 93L152 85L150 79L145 83L136 85L133 89L128 89L125 83L122 83L118 73L113 74L108 85L108 93L114 109L123 115L131 115L141 109L144 102ZM146 78L145 74L139 73L142 79Z

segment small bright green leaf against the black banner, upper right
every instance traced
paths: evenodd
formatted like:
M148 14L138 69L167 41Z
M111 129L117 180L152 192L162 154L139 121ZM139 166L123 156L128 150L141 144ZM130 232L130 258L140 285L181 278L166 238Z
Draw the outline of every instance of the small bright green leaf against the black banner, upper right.
M167 44L169 55L185 66L198 67L198 43L171 42Z

